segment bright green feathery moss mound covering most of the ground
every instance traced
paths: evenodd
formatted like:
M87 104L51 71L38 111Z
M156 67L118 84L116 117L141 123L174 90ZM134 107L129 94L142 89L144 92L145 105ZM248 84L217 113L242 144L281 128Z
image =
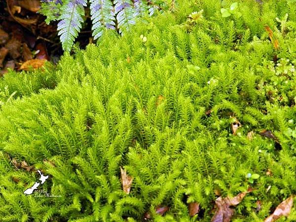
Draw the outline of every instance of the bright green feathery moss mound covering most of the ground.
M232 221L261 222L296 194L295 3L243 0L222 17L231 1L178 2L1 80L0 221L209 222L217 197L249 189ZM25 196L33 166L55 197Z

